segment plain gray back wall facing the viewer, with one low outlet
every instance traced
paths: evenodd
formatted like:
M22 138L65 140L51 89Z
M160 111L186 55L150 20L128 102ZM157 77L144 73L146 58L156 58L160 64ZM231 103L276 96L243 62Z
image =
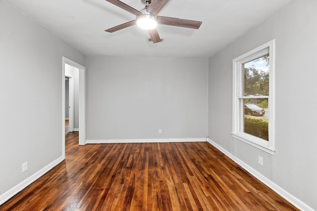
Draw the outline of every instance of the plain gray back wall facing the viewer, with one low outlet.
M87 69L87 140L207 136L208 59L87 57Z

